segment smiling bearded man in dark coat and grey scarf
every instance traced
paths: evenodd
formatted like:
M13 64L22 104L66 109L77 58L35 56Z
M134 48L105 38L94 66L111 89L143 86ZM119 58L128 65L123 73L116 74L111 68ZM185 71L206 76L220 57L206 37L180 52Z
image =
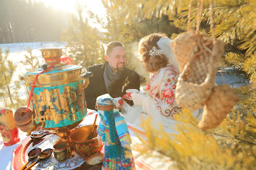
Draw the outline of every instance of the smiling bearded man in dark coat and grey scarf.
M113 98L123 97L127 89L140 89L140 76L126 68L126 51L121 42L109 42L105 59L103 65L88 67L88 71L93 73L85 89L89 109L95 109L96 98L102 94L109 93ZM133 104L130 100L126 102Z

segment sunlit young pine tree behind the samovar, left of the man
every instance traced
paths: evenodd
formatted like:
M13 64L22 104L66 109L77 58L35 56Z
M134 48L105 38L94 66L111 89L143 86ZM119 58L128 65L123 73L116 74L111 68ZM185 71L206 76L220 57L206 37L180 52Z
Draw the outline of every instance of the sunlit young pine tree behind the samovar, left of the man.
M63 40L67 42L67 55L75 64L84 68L102 63L102 45L99 30L88 24L83 15L84 8L77 4L77 15L72 15L67 29L64 29Z

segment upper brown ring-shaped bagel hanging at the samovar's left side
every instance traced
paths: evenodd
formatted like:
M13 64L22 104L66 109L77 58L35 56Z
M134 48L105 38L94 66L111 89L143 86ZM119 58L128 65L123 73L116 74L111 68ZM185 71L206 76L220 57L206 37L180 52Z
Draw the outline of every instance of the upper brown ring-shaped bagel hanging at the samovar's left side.
M19 107L15 114L14 119L17 125L25 125L31 121L33 111L29 108L29 111L26 113L26 106Z

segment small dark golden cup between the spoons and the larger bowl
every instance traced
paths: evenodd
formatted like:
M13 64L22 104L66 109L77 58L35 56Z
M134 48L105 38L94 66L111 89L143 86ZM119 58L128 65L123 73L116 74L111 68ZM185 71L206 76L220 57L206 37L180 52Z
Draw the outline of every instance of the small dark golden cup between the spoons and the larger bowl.
M54 158L58 162L64 162L67 158L67 144L59 142L54 145Z

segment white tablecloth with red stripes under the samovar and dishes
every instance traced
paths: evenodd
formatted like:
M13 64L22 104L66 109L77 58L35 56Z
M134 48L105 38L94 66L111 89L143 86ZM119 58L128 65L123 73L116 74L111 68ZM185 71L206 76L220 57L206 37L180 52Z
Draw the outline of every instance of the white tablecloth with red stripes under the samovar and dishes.
M81 122L81 124L93 124L95 114L97 114L95 110L88 109L88 115L85 117L84 121ZM97 124L99 124L99 117L97 119ZM143 147L140 140L137 138L137 135L144 137L144 131L137 125L130 123L127 124L133 141L132 150L133 157L135 158L134 162L136 169L170 169L172 164L168 161L168 158L157 158L157 152L155 151L150 151L150 153L153 153L154 156L148 158L146 155L141 155L140 152L137 151L137 147ZM4 142L2 138L0 138L0 170L17 169L28 159L27 153L32 149L32 144L29 144L30 137L27 137L25 132L19 131L19 138L21 139L20 142L12 146L3 145ZM49 148L51 145L53 145L57 138L58 137L56 135L49 134L45 137L44 142L40 142L38 146L40 148ZM57 164L59 166L58 169L65 169L61 168L61 166L70 167L70 169L72 169L82 165L85 162L85 160L76 155L75 152L74 155L74 158L67 159L67 162L65 162L66 164L50 161L55 160L54 155L52 155L52 157L44 163L42 162L41 164L36 164L34 169L56 169Z

